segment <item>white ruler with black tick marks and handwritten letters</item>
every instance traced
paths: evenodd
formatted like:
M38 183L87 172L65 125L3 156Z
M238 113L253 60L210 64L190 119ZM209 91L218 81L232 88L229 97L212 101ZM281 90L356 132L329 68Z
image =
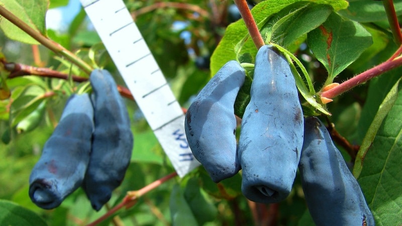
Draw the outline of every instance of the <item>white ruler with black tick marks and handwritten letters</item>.
M183 111L128 9L122 0L80 1L177 174L184 176L199 162L185 138Z

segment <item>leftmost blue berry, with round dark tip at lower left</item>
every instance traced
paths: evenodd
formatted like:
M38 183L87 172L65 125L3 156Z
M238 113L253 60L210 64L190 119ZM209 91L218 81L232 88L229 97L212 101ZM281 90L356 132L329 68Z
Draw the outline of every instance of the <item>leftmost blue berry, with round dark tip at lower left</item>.
M93 108L88 94L71 95L29 178L29 196L36 205L55 208L81 185L93 130Z

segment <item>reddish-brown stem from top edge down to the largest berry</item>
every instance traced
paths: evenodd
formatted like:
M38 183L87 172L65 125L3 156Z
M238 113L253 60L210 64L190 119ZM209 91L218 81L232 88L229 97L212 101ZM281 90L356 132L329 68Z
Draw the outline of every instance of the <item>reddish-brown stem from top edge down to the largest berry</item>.
M246 24L251 39L253 40L257 49L260 49L261 46L265 45L265 43L261 37L260 31L258 30L257 24L254 21L253 15L251 14L250 9L248 8L247 1L235 0L235 4L239 9L240 15L242 16L244 23Z

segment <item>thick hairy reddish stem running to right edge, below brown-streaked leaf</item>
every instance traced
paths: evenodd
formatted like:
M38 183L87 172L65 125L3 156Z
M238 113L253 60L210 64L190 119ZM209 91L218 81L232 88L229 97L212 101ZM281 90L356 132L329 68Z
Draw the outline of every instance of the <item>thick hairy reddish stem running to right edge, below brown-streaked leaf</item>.
M398 57L393 60L385 61L384 63L381 63L363 73L360 73L360 74L356 75L355 77L339 84L338 86L335 86L334 88L331 88L325 92L322 92L321 96L332 99L332 98L370 80L371 78L381 75L381 74L383 74L391 69L394 69L395 67L398 67L400 65L402 65L402 57Z

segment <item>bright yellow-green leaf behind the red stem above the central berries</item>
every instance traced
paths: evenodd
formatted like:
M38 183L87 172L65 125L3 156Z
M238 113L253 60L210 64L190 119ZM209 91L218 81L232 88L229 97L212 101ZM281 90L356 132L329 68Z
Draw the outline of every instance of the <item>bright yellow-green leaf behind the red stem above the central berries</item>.
M289 6L292 3L299 2L298 0L266 0L257 4L251 13L253 18L261 29L265 24L264 21L269 19L273 14L279 12L283 8ZM317 4L328 4L331 5L335 11L340 9L346 9L348 3L344 0L328 0L328 1L315 1ZM239 20L235 23L230 24L225 35L215 49L213 55L211 56L211 76L215 75L216 72L228 61L236 59L236 53L234 48L239 40L248 34L247 28L243 20ZM251 39L248 39L244 46L242 47L243 53L250 53L255 56L257 49Z

